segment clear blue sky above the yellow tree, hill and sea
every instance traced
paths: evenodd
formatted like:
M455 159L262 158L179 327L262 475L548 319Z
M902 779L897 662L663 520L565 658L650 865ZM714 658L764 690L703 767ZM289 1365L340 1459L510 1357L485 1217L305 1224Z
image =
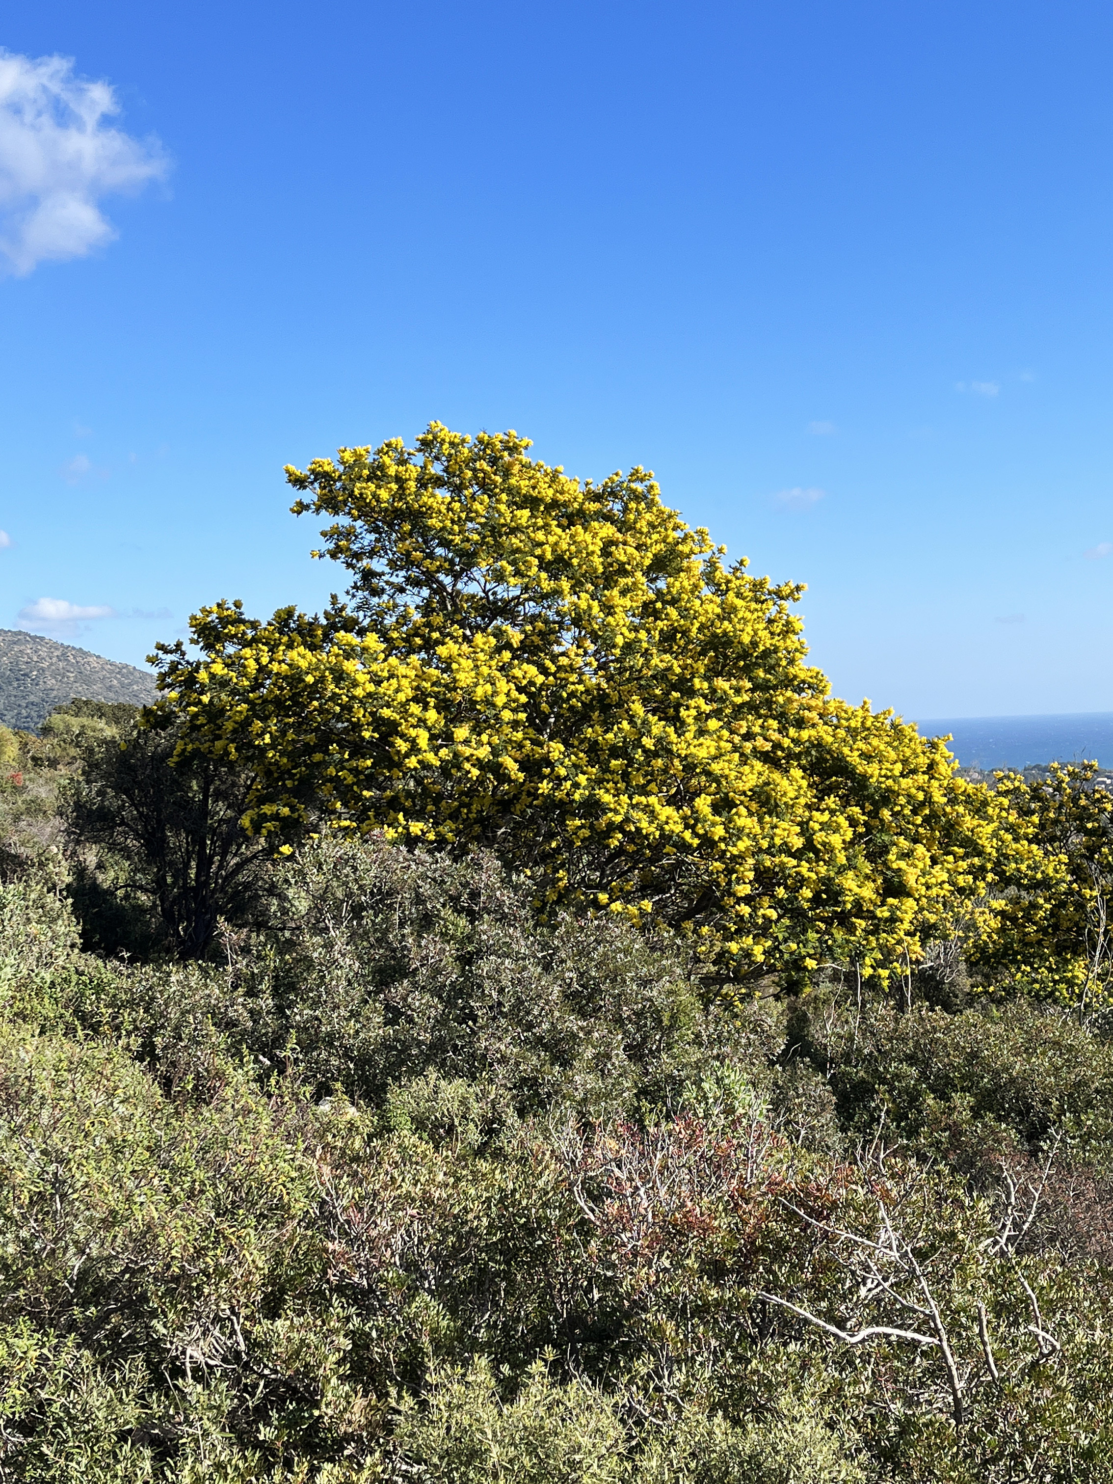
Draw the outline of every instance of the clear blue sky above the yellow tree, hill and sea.
M439 418L654 469L850 700L1113 709L1109 4L16 0L0 45L0 626L141 662L316 607L282 466Z

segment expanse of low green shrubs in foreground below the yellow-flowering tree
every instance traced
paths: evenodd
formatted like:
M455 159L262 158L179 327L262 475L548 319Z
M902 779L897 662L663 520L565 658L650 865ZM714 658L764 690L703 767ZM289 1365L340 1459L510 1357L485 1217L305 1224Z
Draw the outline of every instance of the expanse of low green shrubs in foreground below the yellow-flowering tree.
M727 1017L484 855L326 837L276 889L125 963L0 887L4 1478L1109 1478L1094 1030Z

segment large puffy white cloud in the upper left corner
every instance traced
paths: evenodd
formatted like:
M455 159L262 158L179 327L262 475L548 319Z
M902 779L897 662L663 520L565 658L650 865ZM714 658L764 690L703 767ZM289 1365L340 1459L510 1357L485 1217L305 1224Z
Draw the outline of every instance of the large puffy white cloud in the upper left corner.
M111 242L101 197L166 174L156 141L105 122L119 111L108 83L74 77L68 58L0 50L0 261L7 272L30 273L37 263L80 258Z

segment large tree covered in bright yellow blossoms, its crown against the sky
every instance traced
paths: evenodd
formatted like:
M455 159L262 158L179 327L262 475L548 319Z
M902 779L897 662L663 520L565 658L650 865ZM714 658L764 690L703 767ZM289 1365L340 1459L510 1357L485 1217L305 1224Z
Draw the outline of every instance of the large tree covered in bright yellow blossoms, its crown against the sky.
M347 601L237 603L160 651L184 746L255 773L245 816L487 844L574 902L700 933L732 976L908 965L976 890L945 746L830 696L800 588L727 565L643 469L580 482L516 433L288 469Z

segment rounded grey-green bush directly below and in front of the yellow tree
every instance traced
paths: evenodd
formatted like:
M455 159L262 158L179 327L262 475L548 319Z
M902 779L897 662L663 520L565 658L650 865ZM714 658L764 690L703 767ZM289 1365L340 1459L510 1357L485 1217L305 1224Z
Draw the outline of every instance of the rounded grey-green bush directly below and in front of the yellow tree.
M539 926L528 887L490 855L325 837L285 868L278 917L266 975L252 948L240 978L273 1002L267 1055L319 1089L381 1103L435 1073L521 1116L604 1117L668 1100L746 1034L703 1011L675 945L613 919Z

